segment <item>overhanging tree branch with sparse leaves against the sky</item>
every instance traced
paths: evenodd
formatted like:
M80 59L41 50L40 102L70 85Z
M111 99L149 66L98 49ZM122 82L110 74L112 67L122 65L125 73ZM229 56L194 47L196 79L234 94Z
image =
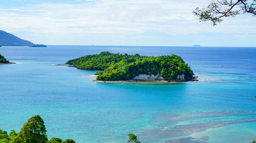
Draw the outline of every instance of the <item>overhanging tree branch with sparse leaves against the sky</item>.
M217 0L212 1L206 8L196 8L193 13L201 21L211 21L215 26L223 21L222 17L233 17L239 14L249 13L256 15L256 0Z

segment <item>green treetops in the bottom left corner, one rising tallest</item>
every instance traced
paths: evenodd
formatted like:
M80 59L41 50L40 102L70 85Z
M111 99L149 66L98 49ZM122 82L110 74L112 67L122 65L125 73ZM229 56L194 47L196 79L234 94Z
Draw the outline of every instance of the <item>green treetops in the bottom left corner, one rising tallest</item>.
M20 129L19 133L11 130L9 135L0 129L0 143L75 143L73 139L62 141L53 137L48 140L45 122L39 115L31 117Z

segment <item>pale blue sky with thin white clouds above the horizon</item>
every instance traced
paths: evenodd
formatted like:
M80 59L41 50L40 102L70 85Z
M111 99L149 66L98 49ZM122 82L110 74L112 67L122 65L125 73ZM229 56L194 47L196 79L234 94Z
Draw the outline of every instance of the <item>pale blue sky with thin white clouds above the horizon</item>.
M0 0L0 30L47 45L256 47L256 17L217 26L193 14L210 0Z

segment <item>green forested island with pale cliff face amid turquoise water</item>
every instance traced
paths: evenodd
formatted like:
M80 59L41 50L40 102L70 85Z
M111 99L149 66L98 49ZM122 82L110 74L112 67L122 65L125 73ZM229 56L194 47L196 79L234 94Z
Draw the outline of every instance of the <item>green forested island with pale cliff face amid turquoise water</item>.
M143 56L108 51L66 63L77 69L96 70L96 81L196 81L193 71L178 55Z

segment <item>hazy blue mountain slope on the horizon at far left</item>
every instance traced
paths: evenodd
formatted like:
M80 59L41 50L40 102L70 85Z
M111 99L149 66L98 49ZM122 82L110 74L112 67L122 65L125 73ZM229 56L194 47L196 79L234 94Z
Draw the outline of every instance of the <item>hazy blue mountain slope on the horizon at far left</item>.
M31 46L34 43L20 39L5 31L0 31L0 45L1 46Z

